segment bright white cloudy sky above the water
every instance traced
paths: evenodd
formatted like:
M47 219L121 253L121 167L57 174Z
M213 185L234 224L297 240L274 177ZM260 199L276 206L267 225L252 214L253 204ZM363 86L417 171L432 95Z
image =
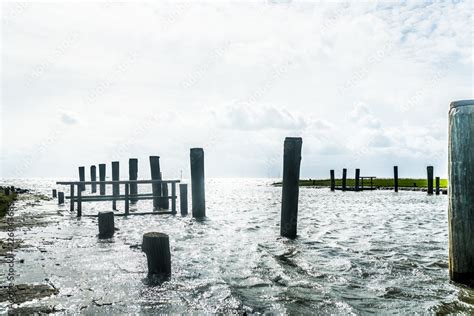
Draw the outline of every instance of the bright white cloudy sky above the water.
M474 1L2 2L1 178L160 156L189 176L447 175L473 99Z

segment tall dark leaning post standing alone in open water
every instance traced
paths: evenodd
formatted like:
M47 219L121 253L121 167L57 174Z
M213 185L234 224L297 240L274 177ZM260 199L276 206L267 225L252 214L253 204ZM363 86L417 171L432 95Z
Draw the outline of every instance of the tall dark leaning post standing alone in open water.
M283 146L280 235L288 238L296 238L302 144L301 137L286 137Z

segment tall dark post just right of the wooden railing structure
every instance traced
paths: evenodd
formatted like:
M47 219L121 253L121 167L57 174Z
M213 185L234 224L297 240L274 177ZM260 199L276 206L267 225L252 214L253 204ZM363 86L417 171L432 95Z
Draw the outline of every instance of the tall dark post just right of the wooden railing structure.
M191 148L191 200L193 217L206 216L206 194L204 181L204 150Z

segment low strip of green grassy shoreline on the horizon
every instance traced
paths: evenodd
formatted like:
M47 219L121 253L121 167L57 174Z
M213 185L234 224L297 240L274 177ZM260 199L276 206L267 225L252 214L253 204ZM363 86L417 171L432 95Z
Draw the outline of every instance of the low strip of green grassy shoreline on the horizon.
M281 182L276 182L273 185L281 186ZM433 183L433 186L435 183ZM300 180L301 187L307 186L316 186L316 187L330 187L331 180L330 179L301 179ZM336 179L336 186L342 186L342 179ZM353 187L355 186L355 179L347 179L347 186ZM373 186L375 188L386 188L386 187L393 187L393 179L390 178L376 178L373 179ZM364 187L370 187L370 180L364 180ZM398 187L400 188L427 188L428 187L428 180L427 179L415 179L415 178L400 178L398 179ZM440 188L446 189L448 187L448 180L447 179L440 179Z

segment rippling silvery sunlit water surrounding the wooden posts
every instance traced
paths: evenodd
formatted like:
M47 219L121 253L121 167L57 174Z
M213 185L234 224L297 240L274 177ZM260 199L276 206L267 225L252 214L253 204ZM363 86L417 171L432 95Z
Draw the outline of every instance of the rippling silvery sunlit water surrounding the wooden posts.
M60 293L31 304L65 312L474 313L474 292L448 279L446 196L301 188L292 241L279 237L281 188L271 182L210 179L205 220L118 217L108 241L68 204L19 202L17 216L47 213L50 223L17 231L28 247L16 252L16 282L48 279ZM14 184L49 195L53 183ZM110 208L85 203L83 214ZM149 231L170 236L173 275L161 286L148 284L137 247Z

